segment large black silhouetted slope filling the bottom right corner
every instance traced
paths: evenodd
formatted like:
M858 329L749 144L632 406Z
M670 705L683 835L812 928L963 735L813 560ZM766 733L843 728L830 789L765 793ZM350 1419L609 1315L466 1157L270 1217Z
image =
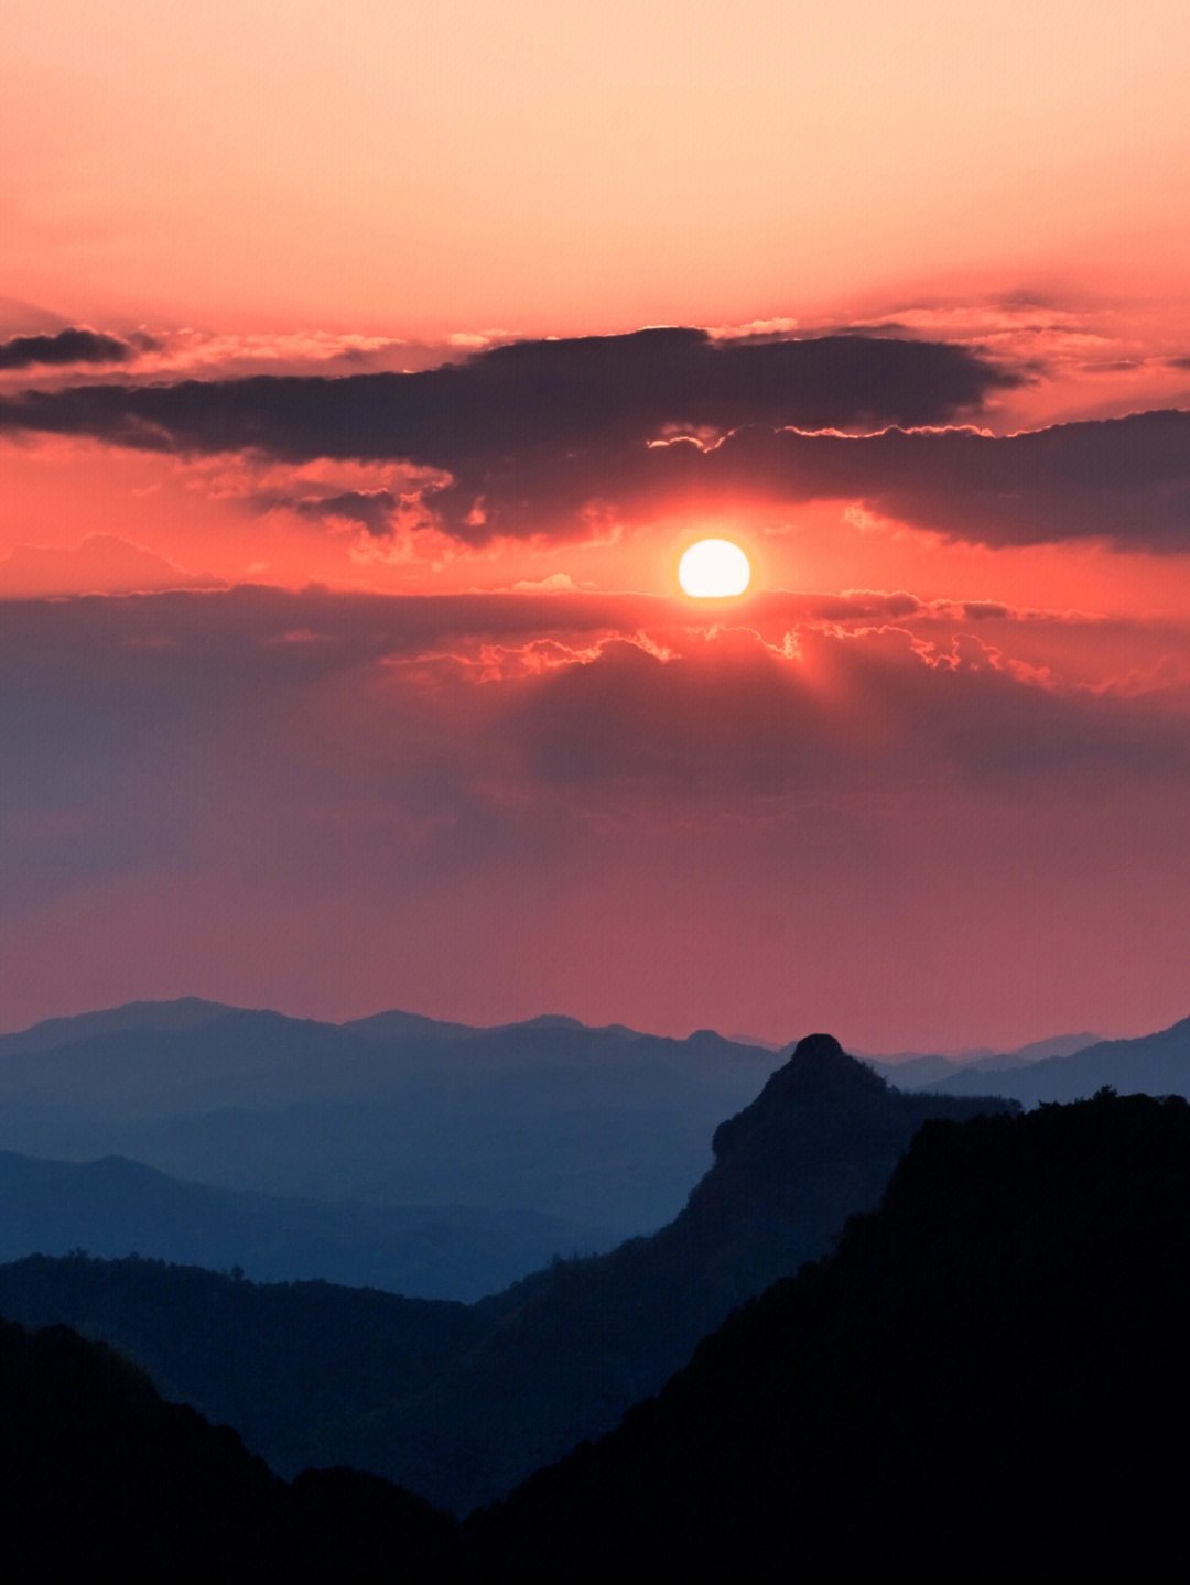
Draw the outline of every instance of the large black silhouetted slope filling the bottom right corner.
M498 1577L1184 1571L1190 1108L927 1124L875 1214L467 1526Z

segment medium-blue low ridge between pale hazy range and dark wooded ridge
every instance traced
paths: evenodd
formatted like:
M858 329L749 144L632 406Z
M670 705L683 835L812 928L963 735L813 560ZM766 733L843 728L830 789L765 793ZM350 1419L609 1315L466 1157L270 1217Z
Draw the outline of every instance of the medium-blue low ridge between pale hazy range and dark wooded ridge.
M475 1300L553 1255L612 1243L539 1211L318 1203L181 1182L119 1155L79 1165L0 1151L0 1260L135 1251L261 1282Z

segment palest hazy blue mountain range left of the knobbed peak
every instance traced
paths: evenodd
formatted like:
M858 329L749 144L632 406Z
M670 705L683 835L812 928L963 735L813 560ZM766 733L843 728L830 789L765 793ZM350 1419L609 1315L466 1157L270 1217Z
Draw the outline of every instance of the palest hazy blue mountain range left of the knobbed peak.
M0 1038L0 1149L312 1200L597 1217L624 1238L677 1214L715 1124L775 1065L708 1032L136 1003Z

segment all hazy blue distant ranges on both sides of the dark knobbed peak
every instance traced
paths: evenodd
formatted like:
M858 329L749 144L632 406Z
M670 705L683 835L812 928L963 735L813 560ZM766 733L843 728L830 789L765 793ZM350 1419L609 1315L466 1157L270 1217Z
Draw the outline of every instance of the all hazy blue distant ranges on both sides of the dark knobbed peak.
M561 1016L318 1024L195 997L51 1019L0 1037L0 1260L138 1252L471 1303L664 1225L715 1124L788 1054ZM1190 1021L864 1060L900 1089L1024 1105L1190 1094Z

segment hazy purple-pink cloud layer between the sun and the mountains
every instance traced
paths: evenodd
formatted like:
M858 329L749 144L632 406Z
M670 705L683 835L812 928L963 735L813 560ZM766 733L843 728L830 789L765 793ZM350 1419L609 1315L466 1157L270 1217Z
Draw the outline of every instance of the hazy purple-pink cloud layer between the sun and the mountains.
M0 631L10 1025L68 981L875 1049L1182 983L1176 628L241 588Z

